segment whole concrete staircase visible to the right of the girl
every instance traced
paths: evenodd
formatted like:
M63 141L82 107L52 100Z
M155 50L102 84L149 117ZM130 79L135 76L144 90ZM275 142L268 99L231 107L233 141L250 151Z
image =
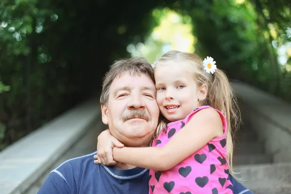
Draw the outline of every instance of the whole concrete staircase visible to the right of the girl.
M291 163L273 163L247 124L236 136L233 165L239 181L254 194L291 194Z

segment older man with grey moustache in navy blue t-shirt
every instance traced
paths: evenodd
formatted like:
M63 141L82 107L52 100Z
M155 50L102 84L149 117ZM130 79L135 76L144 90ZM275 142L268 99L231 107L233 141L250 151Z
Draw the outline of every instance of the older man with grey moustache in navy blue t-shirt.
M102 121L125 146L148 146L160 113L155 96L151 65L141 58L119 60L103 81ZM123 163L95 164L95 154L59 165L38 194L148 194L149 170ZM240 183L232 182L235 194L247 194Z

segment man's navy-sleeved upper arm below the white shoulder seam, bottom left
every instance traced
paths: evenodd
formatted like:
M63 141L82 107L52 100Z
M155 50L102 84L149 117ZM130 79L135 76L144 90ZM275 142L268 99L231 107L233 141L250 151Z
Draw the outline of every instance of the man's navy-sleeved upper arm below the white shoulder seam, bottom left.
M49 173L37 194L71 194L65 177L57 170Z

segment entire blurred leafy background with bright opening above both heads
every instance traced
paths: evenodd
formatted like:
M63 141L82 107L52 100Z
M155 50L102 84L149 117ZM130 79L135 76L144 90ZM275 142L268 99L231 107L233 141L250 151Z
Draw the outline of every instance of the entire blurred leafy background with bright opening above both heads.
M0 150L170 49L291 102L290 0L1 0Z

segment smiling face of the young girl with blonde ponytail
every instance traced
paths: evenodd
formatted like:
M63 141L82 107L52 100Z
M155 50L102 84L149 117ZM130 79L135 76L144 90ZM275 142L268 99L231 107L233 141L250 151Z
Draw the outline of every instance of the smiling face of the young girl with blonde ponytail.
M169 121L184 119L198 106L198 88L193 73L175 62L155 68L157 102Z

